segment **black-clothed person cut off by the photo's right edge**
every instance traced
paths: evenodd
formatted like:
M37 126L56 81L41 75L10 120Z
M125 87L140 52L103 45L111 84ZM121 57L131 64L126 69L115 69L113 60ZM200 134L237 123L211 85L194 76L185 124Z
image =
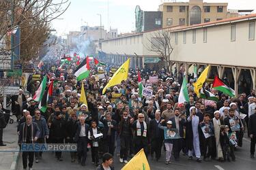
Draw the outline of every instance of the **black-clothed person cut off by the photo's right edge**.
M256 143L256 113L249 118L248 135L251 138L251 158L254 158L255 143Z

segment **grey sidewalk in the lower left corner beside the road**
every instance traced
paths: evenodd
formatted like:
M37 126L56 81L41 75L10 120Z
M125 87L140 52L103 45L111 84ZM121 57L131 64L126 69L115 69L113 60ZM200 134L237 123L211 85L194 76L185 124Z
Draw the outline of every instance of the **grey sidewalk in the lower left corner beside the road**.
M18 160L18 135L16 132L16 118L13 124L8 124L5 129L3 129L3 143L6 146L0 146L0 170L14 170L16 169L16 163Z

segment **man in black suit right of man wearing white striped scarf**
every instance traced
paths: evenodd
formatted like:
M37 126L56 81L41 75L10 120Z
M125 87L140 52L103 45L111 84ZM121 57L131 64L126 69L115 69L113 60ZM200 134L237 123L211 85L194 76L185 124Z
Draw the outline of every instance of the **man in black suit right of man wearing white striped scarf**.
M151 141L151 156L154 158L154 152L156 152L156 161L159 160L162 150L163 131L158 128L158 124L161 120L160 110L156 110L155 118L150 120L150 141Z

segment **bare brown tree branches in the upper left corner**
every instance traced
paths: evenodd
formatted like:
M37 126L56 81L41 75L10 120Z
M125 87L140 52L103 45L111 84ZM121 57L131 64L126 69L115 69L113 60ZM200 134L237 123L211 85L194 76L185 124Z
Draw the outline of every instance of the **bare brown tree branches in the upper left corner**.
M17 27L22 30L34 25L40 26L49 23L61 16L69 5L68 0L0 1L0 52L10 51L15 48L10 45L10 37ZM23 41L20 41L20 44Z

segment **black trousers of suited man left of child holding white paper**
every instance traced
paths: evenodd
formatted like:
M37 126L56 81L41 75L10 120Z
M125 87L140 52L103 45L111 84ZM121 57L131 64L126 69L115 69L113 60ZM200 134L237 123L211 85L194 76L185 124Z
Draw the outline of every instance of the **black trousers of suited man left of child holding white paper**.
M77 153L82 164L85 163L87 158L87 144L87 137L79 137L79 141L77 141Z

